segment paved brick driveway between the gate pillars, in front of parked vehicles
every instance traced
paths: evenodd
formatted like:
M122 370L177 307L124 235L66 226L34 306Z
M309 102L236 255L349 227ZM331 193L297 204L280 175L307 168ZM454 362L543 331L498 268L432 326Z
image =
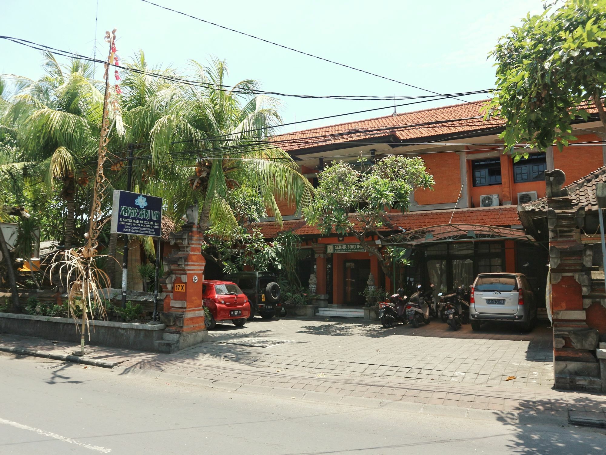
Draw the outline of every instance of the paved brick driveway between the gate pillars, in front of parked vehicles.
M512 388L551 388L551 329L530 334L493 323L457 332L433 320L415 329L383 329L358 319L255 318L244 328L217 325L210 342L182 352L196 358L232 360L276 371L305 371L322 377L393 376L434 383L470 383ZM515 380L507 381L507 377Z

